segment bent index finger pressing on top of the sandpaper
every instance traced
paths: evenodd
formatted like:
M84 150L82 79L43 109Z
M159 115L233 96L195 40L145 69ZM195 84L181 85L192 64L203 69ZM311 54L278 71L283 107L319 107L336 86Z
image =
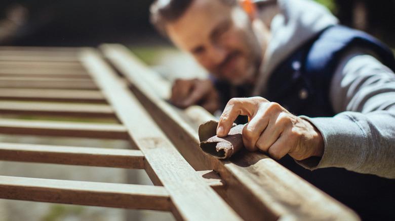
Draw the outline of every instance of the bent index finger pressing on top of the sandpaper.
M226 104L224 111L219 118L217 126L217 136L226 136L233 122L239 115L252 116L257 107L253 105L253 102L249 98L232 98Z

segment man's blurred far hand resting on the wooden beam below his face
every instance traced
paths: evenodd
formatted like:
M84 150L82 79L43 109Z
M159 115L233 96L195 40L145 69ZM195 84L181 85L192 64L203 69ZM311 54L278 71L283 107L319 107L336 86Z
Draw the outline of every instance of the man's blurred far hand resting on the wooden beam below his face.
M180 108L201 105L214 114L219 109L219 95L211 80L175 80L170 101Z

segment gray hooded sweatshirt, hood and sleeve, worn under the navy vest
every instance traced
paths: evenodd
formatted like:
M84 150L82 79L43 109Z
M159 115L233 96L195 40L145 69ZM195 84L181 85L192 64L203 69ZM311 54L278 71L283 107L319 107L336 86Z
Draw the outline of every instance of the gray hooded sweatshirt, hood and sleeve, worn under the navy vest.
M264 94L271 72L306 40L337 20L309 0L279 0L271 22L272 38L254 95ZM302 118L324 138L322 158L298 161L315 170L338 167L395 179L395 74L374 54L352 48L343 54L330 85L330 118Z

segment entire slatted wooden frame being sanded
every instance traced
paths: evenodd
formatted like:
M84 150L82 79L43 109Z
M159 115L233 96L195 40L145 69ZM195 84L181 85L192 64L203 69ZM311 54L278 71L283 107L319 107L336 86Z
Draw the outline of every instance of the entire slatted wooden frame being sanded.
M200 107L180 110L170 105L165 101L169 82L122 45L100 49L0 47L0 66L7 66L10 73L16 70L18 78L38 79L44 74L66 85L55 76L77 70L88 76L77 81L94 86L0 88L0 114L95 115L116 118L120 124L0 119L0 133L127 139L135 149L0 143L0 160L144 169L155 186L0 176L1 198L163 210L180 220L359 219L262 153L244 151L230 160L205 154L199 148L196 126L212 116ZM15 65L35 67L35 62L52 64L43 72ZM59 69L51 74L54 67ZM10 73L3 74L10 77Z

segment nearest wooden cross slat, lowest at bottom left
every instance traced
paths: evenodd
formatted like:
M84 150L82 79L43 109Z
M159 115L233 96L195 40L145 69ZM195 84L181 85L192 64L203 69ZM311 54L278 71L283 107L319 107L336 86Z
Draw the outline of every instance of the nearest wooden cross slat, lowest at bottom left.
M169 211L164 187L0 176L0 198Z

